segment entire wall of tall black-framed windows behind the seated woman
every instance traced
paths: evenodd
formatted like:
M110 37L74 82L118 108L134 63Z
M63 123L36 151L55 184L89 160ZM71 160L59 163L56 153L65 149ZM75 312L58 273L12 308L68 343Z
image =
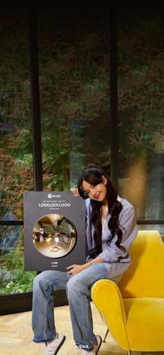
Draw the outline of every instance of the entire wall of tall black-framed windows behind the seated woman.
M4 3L0 14L1 294L31 290L35 275L23 271L23 192L37 185L34 143L43 190L69 190L89 163L115 169L139 228L164 234L163 8L118 1L116 39L112 1L36 3L35 39L23 3ZM38 56L30 73L31 42ZM39 90L31 97L34 76ZM32 109L31 118L34 101L40 117Z

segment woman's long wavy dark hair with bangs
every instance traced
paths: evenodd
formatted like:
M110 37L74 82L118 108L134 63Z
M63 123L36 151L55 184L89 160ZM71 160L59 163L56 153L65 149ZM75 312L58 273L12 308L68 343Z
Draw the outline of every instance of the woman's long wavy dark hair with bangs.
M117 235L117 242L115 243L117 247L120 247L120 242L122 240L122 230L120 229L119 225L119 214L122 210L122 204L120 201L117 201L117 188L112 183L108 175L101 169L101 167L97 167L95 165L89 166L84 172L83 175L79 178L78 182L78 190L79 195L85 198L85 192L82 188L83 180L90 185L98 185L99 183L103 182L102 176L106 177L106 197L108 199L108 213L110 213L111 217L108 221L108 229L112 234L112 240ZM90 250L90 257L96 258L98 254L102 251L101 246L101 237L102 237L102 224L101 224L101 202L90 200L90 204L92 206L92 223L94 225L94 240L95 240L95 247ZM107 243L110 243L110 240Z

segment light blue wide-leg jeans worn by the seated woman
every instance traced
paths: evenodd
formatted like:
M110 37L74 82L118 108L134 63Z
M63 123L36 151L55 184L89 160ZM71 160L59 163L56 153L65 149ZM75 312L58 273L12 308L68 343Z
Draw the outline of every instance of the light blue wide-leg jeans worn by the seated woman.
M104 263L97 263L69 278L67 272L44 271L33 281L32 327L34 342L56 338L54 296L56 290L66 289L76 347L90 350L95 344L90 308L90 287L104 279Z

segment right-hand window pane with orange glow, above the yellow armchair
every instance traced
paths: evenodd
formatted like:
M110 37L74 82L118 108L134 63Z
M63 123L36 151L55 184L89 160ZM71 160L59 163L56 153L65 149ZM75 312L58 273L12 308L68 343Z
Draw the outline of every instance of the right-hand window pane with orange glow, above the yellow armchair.
M160 6L118 6L120 192L138 220L164 217L164 53Z

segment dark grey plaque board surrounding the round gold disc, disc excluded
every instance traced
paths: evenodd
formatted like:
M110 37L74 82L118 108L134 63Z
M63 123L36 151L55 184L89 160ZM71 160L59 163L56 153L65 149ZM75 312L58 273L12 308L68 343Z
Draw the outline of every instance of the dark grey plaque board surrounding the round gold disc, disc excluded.
M60 214L76 229L76 243L69 254L44 256L33 243L33 227L45 215ZM85 263L85 201L72 192L24 192L24 270L66 271L67 266Z

